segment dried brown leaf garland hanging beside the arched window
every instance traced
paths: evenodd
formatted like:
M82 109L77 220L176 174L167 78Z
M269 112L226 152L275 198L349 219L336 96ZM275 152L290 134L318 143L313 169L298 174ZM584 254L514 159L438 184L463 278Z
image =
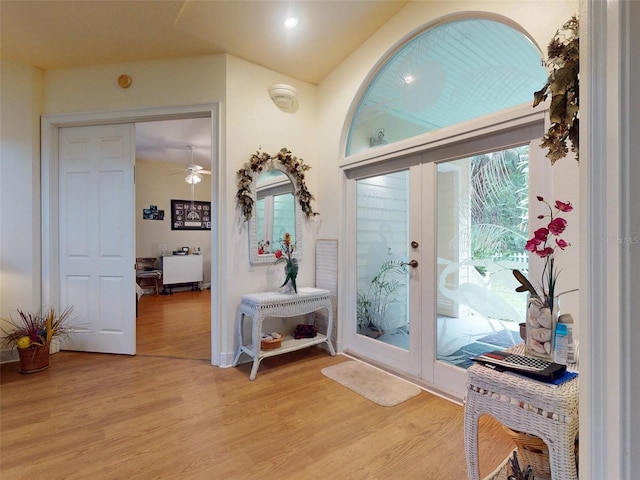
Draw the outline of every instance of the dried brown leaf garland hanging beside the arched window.
M556 32L548 47L547 68L551 69L547 83L542 90L533 94L533 106L546 100L551 93L549 107L549 130L542 137L543 148L548 148L547 158L553 165L556 160L569 153L567 140L571 142L571 151L578 158L579 145L579 75L580 75L580 36L578 19L573 16Z

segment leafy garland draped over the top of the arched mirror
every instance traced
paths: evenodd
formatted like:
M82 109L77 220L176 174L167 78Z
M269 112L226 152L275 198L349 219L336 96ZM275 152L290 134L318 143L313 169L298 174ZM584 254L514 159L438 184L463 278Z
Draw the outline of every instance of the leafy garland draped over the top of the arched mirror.
M236 193L236 200L238 202L238 208L242 210L245 222L248 221L253 214L254 200L251 194L251 182L253 182L254 177L260 175L262 170L268 168L271 162L280 162L289 175L295 179L298 203L307 218L318 215L311 207L311 200L314 198L304 182L304 172L311 167L306 165L301 158L292 155L291 151L286 148L280 149L275 157L258 150L251 155L249 162L245 163L237 172L238 192Z

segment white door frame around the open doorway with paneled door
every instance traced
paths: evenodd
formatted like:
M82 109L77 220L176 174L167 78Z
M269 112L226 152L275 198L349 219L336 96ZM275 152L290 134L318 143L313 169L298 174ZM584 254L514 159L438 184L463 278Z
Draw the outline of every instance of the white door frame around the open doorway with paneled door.
M42 209L42 304L54 304L59 297L58 258L58 134L60 128L105 125L114 123L138 123L150 120L181 118L211 118L211 221L220 224L220 212L224 211L224 168L220 162L220 119L217 103L153 107L112 112L89 112L45 115L41 120L41 209ZM132 206L133 208L133 206ZM131 239L134 242L134 239ZM226 327L220 304L220 265L216 252L224 248L220 229L211 235L211 364L220 365L221 341L226 338ZM135 318L132 318L135 321Z

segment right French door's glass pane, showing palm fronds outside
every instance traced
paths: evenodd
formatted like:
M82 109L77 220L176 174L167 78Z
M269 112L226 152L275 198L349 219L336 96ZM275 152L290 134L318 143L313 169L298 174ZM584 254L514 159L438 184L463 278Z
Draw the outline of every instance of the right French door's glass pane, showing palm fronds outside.
M526 295L512 269L528 270L528 147L437 167L437 360L520 342Z

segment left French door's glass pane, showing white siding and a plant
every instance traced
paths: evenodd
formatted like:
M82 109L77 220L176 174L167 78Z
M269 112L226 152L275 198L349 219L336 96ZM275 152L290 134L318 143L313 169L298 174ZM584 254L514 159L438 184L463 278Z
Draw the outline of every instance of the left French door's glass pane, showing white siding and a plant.
M409 349L409 172L358 180L357 333Z

